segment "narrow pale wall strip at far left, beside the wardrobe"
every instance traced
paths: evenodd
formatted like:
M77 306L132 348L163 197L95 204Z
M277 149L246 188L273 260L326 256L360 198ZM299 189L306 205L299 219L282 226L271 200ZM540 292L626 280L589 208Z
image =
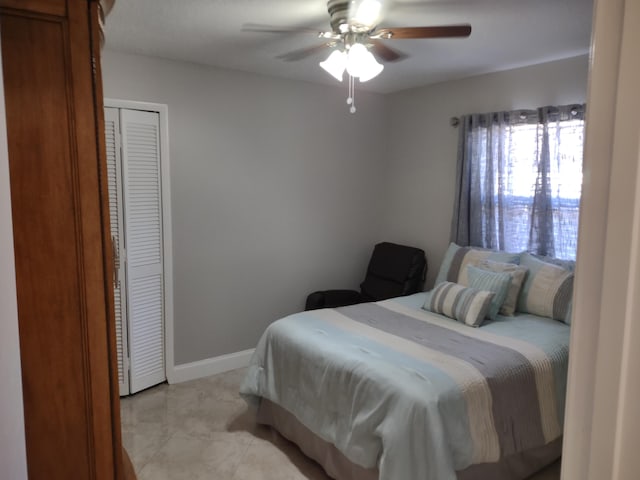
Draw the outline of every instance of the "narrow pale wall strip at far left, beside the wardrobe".
M0 478L27 480L9 154L0 68Z

